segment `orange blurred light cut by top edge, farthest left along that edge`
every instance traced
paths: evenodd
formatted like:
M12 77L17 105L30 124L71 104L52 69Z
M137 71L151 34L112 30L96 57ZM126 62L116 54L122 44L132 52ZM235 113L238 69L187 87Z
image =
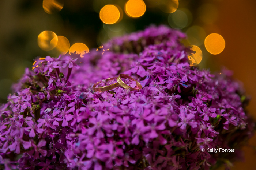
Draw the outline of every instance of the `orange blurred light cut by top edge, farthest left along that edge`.
M46 13L53 14L59 12L63 8L63 0L44 0L43 8Z

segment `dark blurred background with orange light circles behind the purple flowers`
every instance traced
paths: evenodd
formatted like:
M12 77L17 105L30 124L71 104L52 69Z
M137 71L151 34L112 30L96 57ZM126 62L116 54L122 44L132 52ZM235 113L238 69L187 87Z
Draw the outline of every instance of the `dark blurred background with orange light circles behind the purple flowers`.
M233 70L256 119L255 0L1 0L0 103L34 58L83 53L150 24L187 33L183 43L196 51L191 65ZM255 143L253 137L233 170L256 169Z

